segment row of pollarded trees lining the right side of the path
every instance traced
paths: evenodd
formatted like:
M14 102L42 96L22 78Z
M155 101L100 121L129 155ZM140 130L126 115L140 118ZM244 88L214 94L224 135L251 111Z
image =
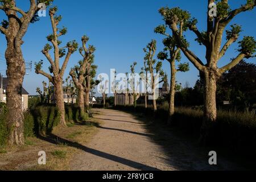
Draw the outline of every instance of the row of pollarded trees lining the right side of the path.
M176 90L176 73L186 72L189 70L188 63L181 63L176 67L176 61L181 60L181 52L187 57L189 61L199 70L201 79L204 81L204 121L201 126L200 142L208 143L210 138L210 131L216 123L217 108L216 108L216 82L217 80L229 69L235 67L243 59L249 59L254 57L256 42L252 36L244 36L239 44L237 51L238 55L231 59L231 61L221 68L218 68L218 61L225 55L228 48L232 43L236 42L241 32L241 26L238 24L232 24L230 29L227 30L228 24L236 17L236 15L254 9L256 3L255 0L247 0L247 2L238 9L230 9L228 0L214 1L208 0L208 12L211 10L211 4L217 3L217 15L211 16L210 13L207 16L207 30L199 31L196 24L197 20L191 18L191 14L188 11L181 10L178 7L169 9L168 7L161 8L159 13L163 16L165 22L164 25L160 25L155 28L155 33L165 36L163 39L164 50L159 52L157 57L160 60L167 60L171 67L171 88L170 88L170 105L169 105L169 119L168 123L171 123L172 115L174 115L175 109L175 90ZM167 31L167 28L170 31ZM192 31L197 36L196 41L205 46L205 61L201 60L195 53L189 48L189 43L184 36L185 31ZM226 41L222 46L222 39L226 31ZM160 70L160 62L156 62L154 56L156 54L156 42L152 40L146 48L144 48L146 56L144 58L144 68L142 72L144 75L151 75L151 84L148 84L148 77L142 77L146 80L145 88L148 86L153 90L153 107L157 109L156 102L154 100L155 89L155 77L153 73ZM205 63L204 63L205 62ZM134 67L131 67L134 69ZM131 70L131 72L133 72ZM148 85L147 85L148 84ZM147 107L147 98L145 98L145 106Z

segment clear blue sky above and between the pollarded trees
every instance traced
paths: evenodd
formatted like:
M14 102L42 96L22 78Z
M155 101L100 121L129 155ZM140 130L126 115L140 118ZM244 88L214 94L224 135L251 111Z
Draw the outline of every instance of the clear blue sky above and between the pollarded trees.
M23 9L28 8L28 0L16 0L18 6ZM230 1L232 9L240 7L246 0ZM110 69L115 68L117 72L126 73L129 71L129 65L133 61L137 61L137 72L140 72L143 63L144 52L143 48L151 39L156 39L158 42L158 52L162 51L163 36L154 34L154 28L159 24L163 24L162 17L158 13L160 7L176 7L188 10L192 16L199 20L199 30L205 30L207 1L187 1L187 0L55 0L54 5L59 7L58 14L63 16L60 26L68 28L68 34L63 36L63 43L69 40L77 40L81 42L81 36L86 34L90 37L90 44L96 48L95 62L98 65L97 73L108 73ZM243 32L240 39L244 35L255 37L255 17L256 10L249 11L238 15L232 23L242 25ZM0 13L0 19L4 19L5 14ZM45 57L40 52L47 43L46 36L51 34L51 24L49 16L41 18L39 22L30 24L27 34L24 37L22 46L24 59L33 61L33 69L30 75L24 78L24 88L30 94L36 94L36 87L42 87L42 81L45 77L34 73L34 62L40 59L45 60L44 70L48 71L49 64ZM204 60L205 49L199 46L195 41L195 36L187 33L187 38L191 43L191 49L199 57ZM0 35L0 72L5 75L5 48L6 40L3 35ZM220 60L220 65L228 63L230 58L237 55L237 44L230 47L226 55ZM65 77L68 76L69 69L77 64L81 59L79 53L72 55L66 70ZM188 61L183 56L183 61ZM250 62L255 63L255 58L250 59ZM166 62L163 64L163 69L170 75L170 65ZM187 73L178 73L177 81L183 85L186 81L190 86L195 84L199 75L196 68L191 65L191 71ZM170 80L170 79L169 79Z

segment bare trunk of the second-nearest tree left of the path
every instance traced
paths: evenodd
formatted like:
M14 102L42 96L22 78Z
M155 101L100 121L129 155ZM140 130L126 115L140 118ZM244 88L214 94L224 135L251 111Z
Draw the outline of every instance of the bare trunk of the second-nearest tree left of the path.
M62 80L60 78L57 78L54 82L55 82L55 89L56 89L55 90L56 105L60 113L60 123L61 125L66 126L67 124L65 122L65 105L64 105L64 98L63 98Z

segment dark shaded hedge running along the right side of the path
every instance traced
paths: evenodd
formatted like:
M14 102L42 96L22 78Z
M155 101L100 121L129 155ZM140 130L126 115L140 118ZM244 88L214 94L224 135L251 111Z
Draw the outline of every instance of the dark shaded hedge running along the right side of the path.
M159 106L154 113L152 108L143 106L116 106L117 110L143 113L155 117L156 121L167 123L168 107ZM200 137L200 128L203 122L203 111L185 107L177 107L173 117L174 126L185 134ZM212 145L228 147L237 152L256 154L256 115L255 110L225 111L218 110L216 125L211 137Z

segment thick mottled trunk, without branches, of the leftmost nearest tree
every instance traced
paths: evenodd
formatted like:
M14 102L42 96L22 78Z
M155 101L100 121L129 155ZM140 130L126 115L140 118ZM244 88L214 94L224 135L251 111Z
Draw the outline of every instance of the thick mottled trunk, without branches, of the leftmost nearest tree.
M6 49L7 62L7 126L9 144L24 144L24 116L22 111L22 83L26 72L22 53L15 51L14 42L8 42Z

